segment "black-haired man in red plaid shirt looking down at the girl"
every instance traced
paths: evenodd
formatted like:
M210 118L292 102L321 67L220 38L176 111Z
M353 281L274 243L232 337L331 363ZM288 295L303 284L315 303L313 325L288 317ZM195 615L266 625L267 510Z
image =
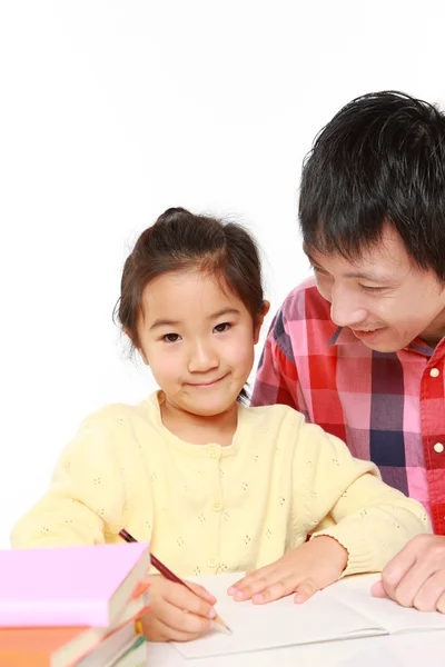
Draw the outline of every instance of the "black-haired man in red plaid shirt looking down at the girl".
M299 218L315 280L277 312L253 405L284 402L428 510L374 594L445 613L445 116L363 96L316 139Z

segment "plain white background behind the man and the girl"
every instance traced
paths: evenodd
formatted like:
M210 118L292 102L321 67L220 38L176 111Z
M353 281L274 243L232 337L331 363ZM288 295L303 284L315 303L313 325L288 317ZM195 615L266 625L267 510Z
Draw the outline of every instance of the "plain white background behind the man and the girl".
M442 6L0 0L1 548L81 419L155 388L111 321L138 233L170 206L247 223L274 311L308 273L314 136L372 90L444 102Z

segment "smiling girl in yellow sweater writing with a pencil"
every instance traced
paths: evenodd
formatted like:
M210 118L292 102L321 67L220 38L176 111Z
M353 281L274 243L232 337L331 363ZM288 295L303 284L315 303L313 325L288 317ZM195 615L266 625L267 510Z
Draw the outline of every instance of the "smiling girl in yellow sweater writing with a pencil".
M298 589L304 601L342 575L382 570L428 531L422 506L340 440L286 406L243 405L268 309L241 227L184 209L160 216L125 263L119 302L160 390L86 419L12 545L119 542L126 528L179 576L261 568L229 590L235 599ZM208 629L209 593L150 579L149 639Z

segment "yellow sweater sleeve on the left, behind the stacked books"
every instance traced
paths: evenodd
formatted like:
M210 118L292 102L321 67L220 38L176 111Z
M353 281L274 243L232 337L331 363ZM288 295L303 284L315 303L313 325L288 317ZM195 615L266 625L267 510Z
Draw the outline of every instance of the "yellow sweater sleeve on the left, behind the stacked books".
M113 436L100 412L62 452L50 488L13 527L13 548L103 544L122 527L125 485Z

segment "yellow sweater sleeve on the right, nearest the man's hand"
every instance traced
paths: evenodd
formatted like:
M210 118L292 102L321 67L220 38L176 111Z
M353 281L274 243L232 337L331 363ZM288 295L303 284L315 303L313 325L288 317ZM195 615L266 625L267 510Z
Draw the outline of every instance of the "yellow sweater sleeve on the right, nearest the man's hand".
M300 425L295 465L308 532L347 549L344 575L380 571L409 539L431 532L419 502L384 484L374 464L354 458L318 426Z

